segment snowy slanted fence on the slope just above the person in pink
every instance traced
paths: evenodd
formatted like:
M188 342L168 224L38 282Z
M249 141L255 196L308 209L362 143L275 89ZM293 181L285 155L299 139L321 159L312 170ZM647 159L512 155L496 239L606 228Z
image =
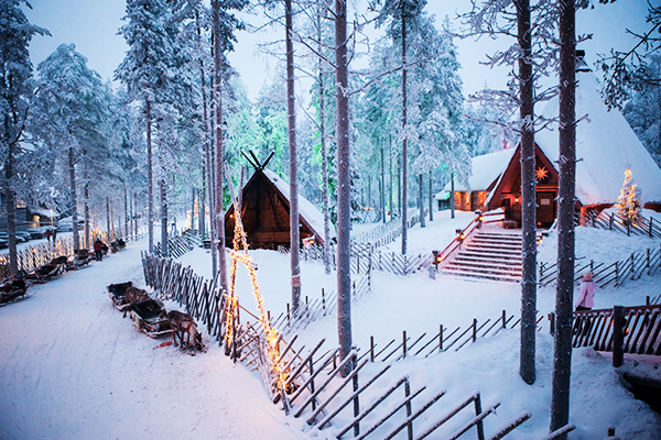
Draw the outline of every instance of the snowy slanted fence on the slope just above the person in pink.
M578 282L584 271L593 272L593 279L598 287L613 284L622 286L629 279L639 279L642 275L654 275L661 270L661 245L658 249L648 249L633 252L627 260L611 263L597 263L594 261L576 261L574 265L574 280ZM557 277L557 263L540 263L538 283L545 286Z

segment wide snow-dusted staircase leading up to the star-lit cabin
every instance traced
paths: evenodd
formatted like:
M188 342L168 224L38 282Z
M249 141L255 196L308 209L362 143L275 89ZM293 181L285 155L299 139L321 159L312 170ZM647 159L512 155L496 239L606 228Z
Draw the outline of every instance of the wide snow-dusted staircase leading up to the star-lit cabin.
M442 265L442 271L448 275L519 283L521 241L521 230L478 231Z

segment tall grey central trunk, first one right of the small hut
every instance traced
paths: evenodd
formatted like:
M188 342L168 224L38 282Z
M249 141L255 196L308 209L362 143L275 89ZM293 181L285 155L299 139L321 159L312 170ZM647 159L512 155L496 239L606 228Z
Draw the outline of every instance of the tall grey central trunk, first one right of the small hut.
M351 351L351 183L349 177L349 92L347 57L347 2L335 0L335 66L337 96L337 332L339 358ZM353 362L340 372L344 377Z

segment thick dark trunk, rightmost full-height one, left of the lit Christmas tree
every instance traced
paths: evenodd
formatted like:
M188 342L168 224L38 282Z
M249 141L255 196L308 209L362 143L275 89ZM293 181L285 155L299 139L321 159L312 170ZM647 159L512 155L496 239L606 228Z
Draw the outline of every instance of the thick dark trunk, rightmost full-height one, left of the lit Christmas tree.
M576 31L573 0L560 0L560 173L557 287L551 395L551 431L570 420L572 300L574 297L574 195L576 189ZM566 436L564 436L566 438Z

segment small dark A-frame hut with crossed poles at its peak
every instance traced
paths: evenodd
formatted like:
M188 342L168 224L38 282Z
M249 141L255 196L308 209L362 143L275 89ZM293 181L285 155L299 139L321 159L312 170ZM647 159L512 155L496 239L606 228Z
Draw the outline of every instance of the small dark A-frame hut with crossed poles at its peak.
M268 162L268 161L267 161ZM253 164L254 165L254 164ZM290 246L290 190L289 183L278 177L263 165L257 164L256 172L241 190L241 220L250 249ZM324 242L324 216L304 197L299 196L301 243ZM234 204L225 212L225 242L231 246L235 228ZM335 228L330 226L332 238Z

